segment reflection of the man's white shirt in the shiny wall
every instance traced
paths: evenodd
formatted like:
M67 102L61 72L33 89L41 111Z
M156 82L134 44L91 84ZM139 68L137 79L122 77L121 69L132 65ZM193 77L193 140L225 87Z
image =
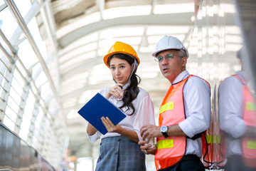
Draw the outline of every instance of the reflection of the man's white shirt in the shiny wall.
M245 79L245 73L236 73ZM220 129L232 138L226 139L227 156L242 155L240 137L246 132L245 120L242 119L242 82L230 76L220 83L218 89L218 112Z

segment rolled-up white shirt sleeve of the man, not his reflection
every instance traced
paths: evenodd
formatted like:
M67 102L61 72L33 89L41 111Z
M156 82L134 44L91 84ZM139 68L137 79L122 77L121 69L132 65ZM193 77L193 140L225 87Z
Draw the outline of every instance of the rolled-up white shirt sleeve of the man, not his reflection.
M210 88L206 81L193 76L183 88L186 120L179 123L183 133L193 138L210 127Z

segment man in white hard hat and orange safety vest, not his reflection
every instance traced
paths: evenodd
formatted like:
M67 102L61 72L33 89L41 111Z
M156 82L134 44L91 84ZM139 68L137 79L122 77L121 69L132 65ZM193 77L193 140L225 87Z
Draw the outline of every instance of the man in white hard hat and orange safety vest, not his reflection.
M159 126L141 129L142 151L155 155L156 170L205 170L201 135L210 126L210 86L186 71L188 51L173 36L164 36L152 54L171 85L161 103ZM156 138L156 147L146 145Z

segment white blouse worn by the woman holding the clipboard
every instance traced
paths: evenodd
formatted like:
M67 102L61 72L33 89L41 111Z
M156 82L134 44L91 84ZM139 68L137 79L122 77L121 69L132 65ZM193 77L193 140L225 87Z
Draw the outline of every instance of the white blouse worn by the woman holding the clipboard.
M105 96L108 89L109 88L100 90L100 94ZM122 105L122 101L114 99L113 96L110 97L109 100L117 107ZM119 123L119 125L127 130L134 130L137 133L139 140L142 140L142 137L139 133L142 126L156 125L154 119L154 106L151 98L149 97L149 93L147 93L146 90L142 88L139 88L139 94L137 95L137 98L132 101L132 104L134 105L135 113L133 115L129 115L132 113L132 109L127 110L127 107L122 108L127 117L125 117L124 120ZM97 139L114 136L120 135L118 133L106 133L105 135L102 135L99 131L97 131L94 135L89 136L89 139L90 142L95 142Z

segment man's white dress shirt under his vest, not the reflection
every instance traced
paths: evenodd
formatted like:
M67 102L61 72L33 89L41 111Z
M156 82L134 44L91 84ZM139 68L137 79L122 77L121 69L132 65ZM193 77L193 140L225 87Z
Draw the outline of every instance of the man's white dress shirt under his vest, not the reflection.
M183 81L188 76L188 71L183 71L176 77L174 83ZM198 133L203 133L210 127L210 88L206 81L197 76L188 78L183 87L183 99L186 119L178 125L189 137L185 155L193 154L201 157L201 138L196 140L190 138Z

